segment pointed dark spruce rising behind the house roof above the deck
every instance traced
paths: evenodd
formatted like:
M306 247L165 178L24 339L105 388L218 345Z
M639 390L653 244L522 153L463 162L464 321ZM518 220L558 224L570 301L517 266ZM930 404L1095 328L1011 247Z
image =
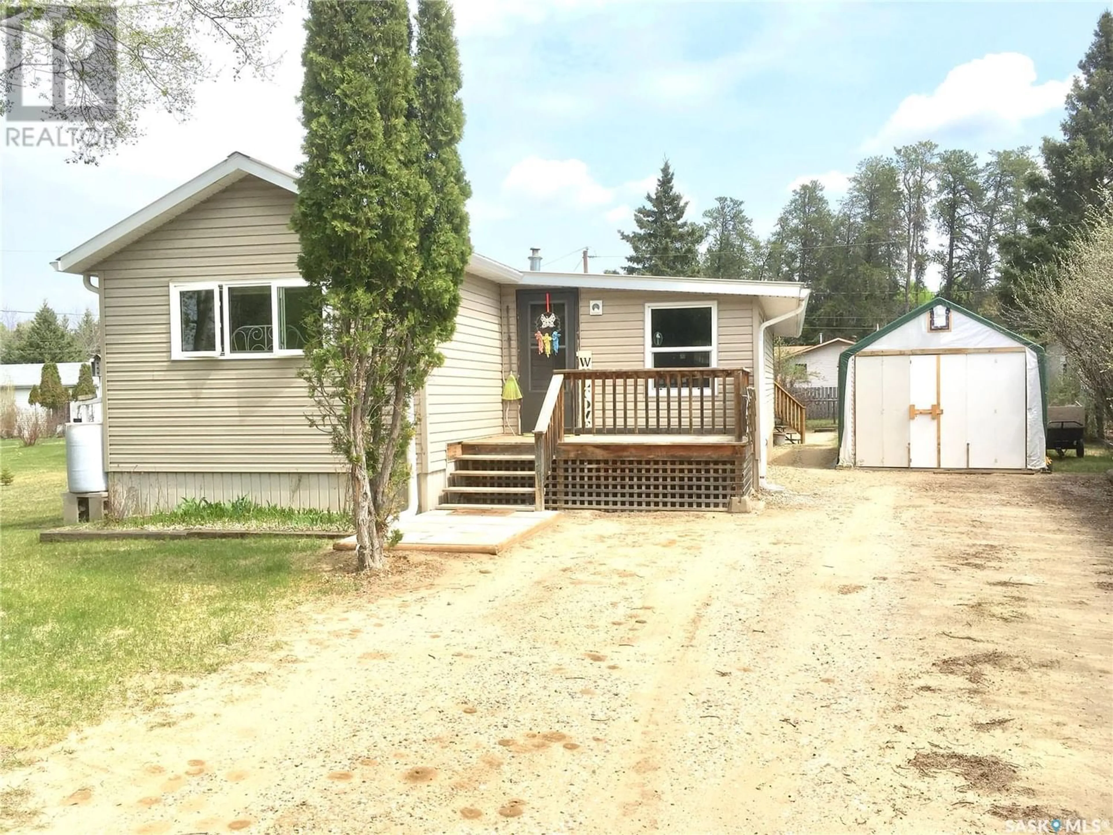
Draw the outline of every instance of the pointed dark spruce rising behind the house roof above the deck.
M648 205L633 213L638 230L619 229L619 237L633 250L623 267L627 275L699 275L699 245L707 230L701 224L684 220L688 200L677 191L672 178L666 159L657 188L646 194Z

